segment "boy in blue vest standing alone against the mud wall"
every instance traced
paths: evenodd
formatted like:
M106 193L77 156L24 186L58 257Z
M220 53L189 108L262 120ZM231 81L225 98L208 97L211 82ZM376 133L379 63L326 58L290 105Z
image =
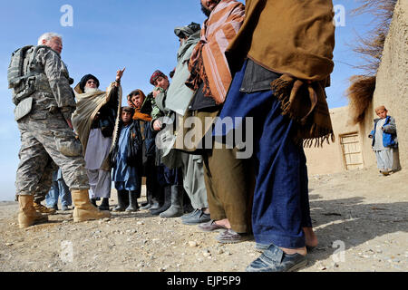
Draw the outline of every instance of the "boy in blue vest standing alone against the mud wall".
M368 135L373 139L377 167L384 176L393 171L393 149L398 146L395 120L387 112L384 106L375 109L380 118L374 120L374 130Z

